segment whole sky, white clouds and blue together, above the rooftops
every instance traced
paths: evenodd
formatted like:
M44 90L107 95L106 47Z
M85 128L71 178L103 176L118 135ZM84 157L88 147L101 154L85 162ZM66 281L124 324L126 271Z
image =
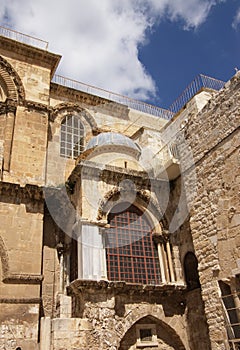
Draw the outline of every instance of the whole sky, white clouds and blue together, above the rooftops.
M49 41L58 74L165 108L240 68L239 0L2 0L0 24Z

